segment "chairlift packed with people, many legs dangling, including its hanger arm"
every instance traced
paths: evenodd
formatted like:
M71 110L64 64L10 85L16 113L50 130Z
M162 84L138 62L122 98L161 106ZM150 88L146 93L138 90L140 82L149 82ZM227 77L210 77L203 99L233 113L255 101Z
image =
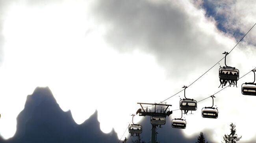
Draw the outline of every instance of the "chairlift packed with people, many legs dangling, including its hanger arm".
M225 65L226 65L226 56L229 54L228 52L224 52L225 54ZM227 82L229 82L229 86L232 84L235 86L237 85L237 80L239 80L239 70L235 67L229 67L226 65L219 68L219 80L221 82L221 85L225 86ZM220 86L221 86L220 85ZM220 87L219 86L219 87Z

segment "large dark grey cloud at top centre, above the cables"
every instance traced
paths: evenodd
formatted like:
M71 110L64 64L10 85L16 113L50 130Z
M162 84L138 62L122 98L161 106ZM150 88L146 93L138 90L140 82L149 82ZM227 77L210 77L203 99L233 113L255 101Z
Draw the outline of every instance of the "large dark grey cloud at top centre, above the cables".
M185 74L208 68L221 55L224 43L200 29L200 16L190 15L173 2L147 0L97 1L95 18L105 24L106 40L127 52L140 49L154 54L168 73ZM216 53L219 51L219 53Z

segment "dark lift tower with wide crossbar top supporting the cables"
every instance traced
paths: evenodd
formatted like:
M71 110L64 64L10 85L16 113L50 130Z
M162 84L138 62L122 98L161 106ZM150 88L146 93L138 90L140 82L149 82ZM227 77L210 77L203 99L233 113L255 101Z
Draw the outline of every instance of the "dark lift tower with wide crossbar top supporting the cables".
M150 143L156 143L156 127L158 125L165 125L165 118L166 116L170 116L173 111L169 110L169 106L172 105L167 105L167 104L157 104L157 103L137 103L139 105L141 105L141 109L137 110L136 114L139 113L139 116L150 116L150 122L152 125L152 129L151 129L151 142ZM146 109L143 108L142 105L151 105L150 107L154 106L154 110L150 110L148 109L148 107ZM156 109L156 106L160 106L163 107L165 106L165 108L161 108L161 109Z

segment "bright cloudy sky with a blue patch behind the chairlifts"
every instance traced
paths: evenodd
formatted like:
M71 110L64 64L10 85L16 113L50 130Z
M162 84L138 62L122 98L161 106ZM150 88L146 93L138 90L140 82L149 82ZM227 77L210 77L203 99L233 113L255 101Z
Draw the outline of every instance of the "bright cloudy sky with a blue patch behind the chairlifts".
M223 58L255 24L254 7L251 0L0 0L0 135L11 138L26 96L49 87L76 123L97 110L100 129L114 129L121 138L137 102L171 97ZM227 56L240 77L256 67L255 32ZM219 64L186 89L187 98L200 101L220 90ZM220 142L232 122L240 141L254 141L255 133L243 125L245 118L256 118L254 97L241 94L241 84L253 78L249 73L237 88L215 94L217 119L201 117L210 98L198 103L185 116L184 136L207 130ZM170 110L179 109L180 98L183 92L165 101Z

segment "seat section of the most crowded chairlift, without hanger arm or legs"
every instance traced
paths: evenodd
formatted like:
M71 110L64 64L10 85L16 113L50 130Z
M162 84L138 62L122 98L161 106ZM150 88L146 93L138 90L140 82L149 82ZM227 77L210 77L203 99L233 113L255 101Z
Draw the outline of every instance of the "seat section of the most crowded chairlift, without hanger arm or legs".
M230 72L232 74L230 74ZM219 78L220 80L234 80L239 79L239 70L234 68L221 67L219 69Z

